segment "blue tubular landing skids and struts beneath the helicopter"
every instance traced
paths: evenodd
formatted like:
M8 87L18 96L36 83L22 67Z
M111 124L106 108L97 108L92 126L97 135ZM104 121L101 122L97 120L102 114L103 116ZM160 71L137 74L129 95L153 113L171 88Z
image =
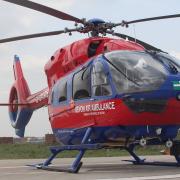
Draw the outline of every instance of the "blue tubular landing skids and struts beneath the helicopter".
M134 160L125 160L128 162L132 162L135 165L155 165L155 166L180 166L180 141L175 141L173 147L171 148L171 155L173 155L177 161L177 163L169 163L169 162L146 162L145 159L141 159L134 151L136 146L139 146L139 142L133 142L129 145L119 145L119 144L86 144L88 142L89 137L91 136L92 128L89 127L85 135L82 139L81 144L79 145L64 145L64 146L54 146L50 147L51 156L41 164L30 165L31 167L35 167L41 170L47 171L56 171L56 172L68 172L68 173L78 173L82 162L81 159L84 156L84 153L87 150L98 150L98 149L124 149L129 152L129 154L134 158ZM147 141L147 145L162 145L164 144L160 139L150 139ZM51 166L51 162L53 159L62 151L70 151L77 150L79 153L77 154L74 162L70 167L54 167Z

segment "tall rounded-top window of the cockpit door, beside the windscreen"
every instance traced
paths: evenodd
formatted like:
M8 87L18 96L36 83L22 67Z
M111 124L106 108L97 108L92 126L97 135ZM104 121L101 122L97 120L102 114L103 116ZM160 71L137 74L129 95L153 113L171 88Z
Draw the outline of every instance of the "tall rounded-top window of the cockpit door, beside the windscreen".
M92 89L94 96L112 95L111 86L108 83L107 75L104 72L104 66L101 62L96 62L92 71Z

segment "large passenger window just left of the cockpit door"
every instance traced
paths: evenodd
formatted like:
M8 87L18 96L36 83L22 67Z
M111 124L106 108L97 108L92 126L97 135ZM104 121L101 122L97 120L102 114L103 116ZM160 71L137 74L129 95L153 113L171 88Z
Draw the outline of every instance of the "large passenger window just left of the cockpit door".
M73 77L73 98L84 99L91 96L90 67L76 73Z

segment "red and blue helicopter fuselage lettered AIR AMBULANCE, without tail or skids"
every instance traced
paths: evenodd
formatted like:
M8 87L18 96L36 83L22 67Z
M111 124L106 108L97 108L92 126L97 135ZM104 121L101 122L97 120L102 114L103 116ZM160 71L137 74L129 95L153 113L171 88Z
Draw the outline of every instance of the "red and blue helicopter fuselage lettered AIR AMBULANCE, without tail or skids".
M94 54L89 55L92 42L95 42L95 50ZM58 141L79 144L88 127L93 127L89 143L112 142L129 137L160 137L163 140L176 137L180 127L180 102L177 98L180 91L174 83L177 82L178 86L180 74L171 73L168 67L161 64L166 75L163 82L154 82L155 89L152 82L148 87L144 83L139 89L135 87L133 90L133 86L117 92L118 82L114 82L104 54L118 51L124 51L127 55L130 52L145 52L134 42L92 38L58 50L46 64L50 89L49 119ZM94 82L94 74L98 72L93 72L93 68L96 69L97 63L97 69L102 66L106 76L102 87ZM143 63L140 61L136 66L143 67ZM103 81L101 78L100 81Z

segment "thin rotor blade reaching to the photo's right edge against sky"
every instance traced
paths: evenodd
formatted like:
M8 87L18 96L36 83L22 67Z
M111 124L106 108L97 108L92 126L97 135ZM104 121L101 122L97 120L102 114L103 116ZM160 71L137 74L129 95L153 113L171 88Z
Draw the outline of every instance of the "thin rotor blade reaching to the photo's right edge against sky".
M173 15L167 15L167 16L157 16L157 17L151 17L151 18L144 18L144 19L137 19L133 21L122 21L118 25L129 25L134 23L140 23L140 22L146 22L146 21L155 21L155 20L161 20L161 19L171 19L171 18L178 18L180 17L180 14L173 14Z

